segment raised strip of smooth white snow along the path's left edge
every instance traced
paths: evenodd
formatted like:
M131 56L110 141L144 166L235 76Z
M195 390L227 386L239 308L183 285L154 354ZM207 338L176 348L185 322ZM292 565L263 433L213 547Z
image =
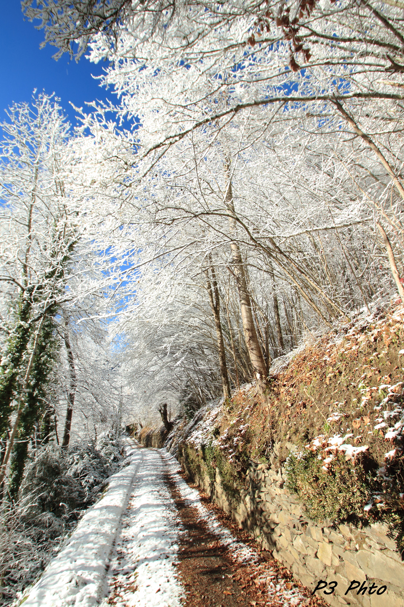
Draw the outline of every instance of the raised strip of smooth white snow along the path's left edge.
M137 449L130 463L109 479L104 497L79 521L61 552L39 581L25 593L25 607L93 607L101 596L105 568L126 509L141 459Z

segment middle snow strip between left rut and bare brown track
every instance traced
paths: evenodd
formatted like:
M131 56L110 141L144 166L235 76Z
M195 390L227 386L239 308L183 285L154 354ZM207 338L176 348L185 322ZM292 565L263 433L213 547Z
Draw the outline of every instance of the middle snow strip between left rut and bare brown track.
M112 595L101 606L179 607L184 590L176 563L182 526L164 483L166 466L154 449L138 449L136 457L141 466L107 580Z

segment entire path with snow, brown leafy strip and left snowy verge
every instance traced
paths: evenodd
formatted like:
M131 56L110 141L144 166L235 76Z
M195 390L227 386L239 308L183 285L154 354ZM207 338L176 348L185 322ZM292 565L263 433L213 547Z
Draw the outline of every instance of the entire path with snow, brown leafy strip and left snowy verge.
M127 439L127 455L128 465L111 476L24 607L309 604L247 534L239 541L217 519L223 513L202 503L165 449Z

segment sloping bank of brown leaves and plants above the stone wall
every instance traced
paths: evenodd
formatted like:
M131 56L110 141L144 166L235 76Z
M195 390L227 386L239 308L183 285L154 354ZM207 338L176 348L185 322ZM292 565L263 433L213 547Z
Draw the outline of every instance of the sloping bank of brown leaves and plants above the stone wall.
M180 456L212 479L219 468L229 489L241 488L251 460L286 463L287 486L312 520L386 520L402 550L403 317L399 300L306 345L271 376L267 402L244 386Z

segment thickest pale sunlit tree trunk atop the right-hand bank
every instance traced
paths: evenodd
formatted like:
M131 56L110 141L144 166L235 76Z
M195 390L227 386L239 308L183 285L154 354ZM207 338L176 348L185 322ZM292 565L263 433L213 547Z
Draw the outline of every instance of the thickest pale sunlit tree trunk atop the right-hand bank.
M225 167L226 175L228 178L228 188L225 198L225 203L230 211L231 215L235 215L234 212L234 201L233 191L231 189L231 178L230 178L230 163L226 164ZM236 236L236 219L230 217L230 230ZM250 354L251 364L253 365L254 375L257 380L260 393L263 394L265 388L267 388L267 366L262 356L262 351L259 345L257 331L254 325L253 311L251 310L251 300L247 289L247 280L245 279L245 271L243 266L243 260L239 243L236 240L232 240L230 243L231 254L233 257L234 276L236 277L237 288L240 296L240 308L241 317L243 321L243 333L245 337L245 344L247 345L248 353Z

